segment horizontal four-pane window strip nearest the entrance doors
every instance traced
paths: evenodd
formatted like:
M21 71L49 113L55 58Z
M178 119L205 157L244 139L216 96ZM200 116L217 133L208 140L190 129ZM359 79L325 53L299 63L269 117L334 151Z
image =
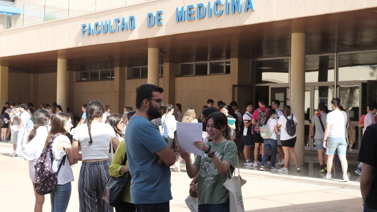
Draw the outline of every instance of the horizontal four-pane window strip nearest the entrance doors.
M181 64L181 76L208 74L230 74L230 61L223 60Z

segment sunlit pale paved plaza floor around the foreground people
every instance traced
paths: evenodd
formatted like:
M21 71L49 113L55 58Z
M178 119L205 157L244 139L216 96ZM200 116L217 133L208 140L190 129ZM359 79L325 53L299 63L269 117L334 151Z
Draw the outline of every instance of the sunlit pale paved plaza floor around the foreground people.
M0 143L0 211L29 212L34 209L34 192L29 178L28 161L7 155L12 146ZM80 164L72 167L75 181L67 211L78 211L77 179ZM360 190L317 184L281 181L243 174L247 183L242 186L246 211L362 211ZM185 198L189 195L190 178L185 172L172 172L170 211L189 212ZM45 195L44 211L51 210L50 197Z

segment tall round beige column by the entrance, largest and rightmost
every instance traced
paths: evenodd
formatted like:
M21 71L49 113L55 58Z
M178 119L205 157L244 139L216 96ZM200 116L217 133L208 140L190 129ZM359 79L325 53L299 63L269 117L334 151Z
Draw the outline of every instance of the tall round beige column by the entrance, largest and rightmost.
M295 151L299 165L304 164L304 121L305 121L305 33L292 33L291 41L291 73L290 73L290 106L297 118L297 141ZM294 164L290 160L290 164Z

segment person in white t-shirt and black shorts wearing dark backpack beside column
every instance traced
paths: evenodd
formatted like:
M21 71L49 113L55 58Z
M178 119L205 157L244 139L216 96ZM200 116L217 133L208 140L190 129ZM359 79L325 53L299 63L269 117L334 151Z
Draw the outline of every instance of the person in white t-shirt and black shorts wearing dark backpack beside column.
M294 135L289 135L287 132L287 121L293 119L294 127L297 126L297 118L295 115L291 114L291 107L288 105L284 106L284 115L280 116L279 121L277 121L277 127L280 128L280 141L282 143L284 151L284 167L277 170L278 172L288 172L289 167L289 156L292 156L293 162L296 165L297 171L300 171L299 162L297 160L296 152L294 152L294 144L296 144L296 133Z

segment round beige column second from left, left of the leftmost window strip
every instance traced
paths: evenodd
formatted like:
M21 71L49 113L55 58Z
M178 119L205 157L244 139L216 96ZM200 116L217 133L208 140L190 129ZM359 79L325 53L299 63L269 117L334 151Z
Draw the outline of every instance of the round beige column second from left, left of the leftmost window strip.
M67 59L58 58L56 79L56 102L65 111L68 106Z

